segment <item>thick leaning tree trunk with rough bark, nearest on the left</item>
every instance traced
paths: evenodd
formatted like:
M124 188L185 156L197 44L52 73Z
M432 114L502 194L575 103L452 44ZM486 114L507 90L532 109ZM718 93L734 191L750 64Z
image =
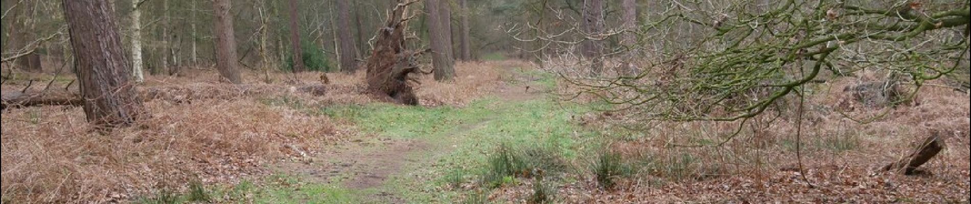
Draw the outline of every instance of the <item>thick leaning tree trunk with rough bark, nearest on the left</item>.
M128 80L117 19L106 0L63 0L87 121L129 126L146 115Z

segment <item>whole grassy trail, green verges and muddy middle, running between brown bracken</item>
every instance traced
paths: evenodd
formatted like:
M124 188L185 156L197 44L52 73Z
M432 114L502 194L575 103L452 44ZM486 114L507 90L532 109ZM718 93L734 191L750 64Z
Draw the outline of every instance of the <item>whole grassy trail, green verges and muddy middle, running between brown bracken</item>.
M314 162L282 165L270 185L243 190L258 203L452 203L475 196L461 187L483 181L488 156L501 145L576 157L585 148L578 141L588 137L570 122L577 109L537 90L552 86L552 76L518 73L505 90L465 107L372 103L315 109L352 121L367 136Z

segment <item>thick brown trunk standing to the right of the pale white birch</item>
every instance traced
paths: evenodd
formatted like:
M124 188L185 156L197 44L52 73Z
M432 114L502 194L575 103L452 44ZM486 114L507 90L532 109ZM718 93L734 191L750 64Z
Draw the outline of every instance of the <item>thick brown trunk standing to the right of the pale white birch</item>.
M236 38L233 35L233 15L229 13L229 0L214 0L216 13L216 68L231 83L243 83L236 56Z

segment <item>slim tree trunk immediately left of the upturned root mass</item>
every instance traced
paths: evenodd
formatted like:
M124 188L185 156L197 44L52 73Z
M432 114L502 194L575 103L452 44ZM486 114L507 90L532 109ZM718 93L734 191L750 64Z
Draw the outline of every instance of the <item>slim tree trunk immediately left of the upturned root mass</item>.
M357 71L354 61L354 39L351 35L351 7L349 1L337 1L337 39L340 55L341 71L353 73Z

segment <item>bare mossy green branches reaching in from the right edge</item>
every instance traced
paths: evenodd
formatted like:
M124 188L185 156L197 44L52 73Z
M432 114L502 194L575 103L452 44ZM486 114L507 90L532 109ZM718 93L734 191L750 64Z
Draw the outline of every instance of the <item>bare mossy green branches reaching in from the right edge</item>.
M591 1L595 0L587 0ZM607 110L633 112L642 119L635 123L744 123L767 111L779 113L778 108L786 105L781 101L801 96L803 86L820 77L859 70L886 72L887 83L914 86L909 97L927 80L947 75L966 80L968 73L961 70L967 69L971 42L965 32L971 20L968 4L660 1L655 5L662 7L649 8L656 12L646 12L649 20L635 30L571 33L577 41L550 40L553 36L534 40L583 44L630 32L650 36L611 53L624 56L636 50L647 70L596 78L564 73L577 87L570 96L593 96L614 104Z

